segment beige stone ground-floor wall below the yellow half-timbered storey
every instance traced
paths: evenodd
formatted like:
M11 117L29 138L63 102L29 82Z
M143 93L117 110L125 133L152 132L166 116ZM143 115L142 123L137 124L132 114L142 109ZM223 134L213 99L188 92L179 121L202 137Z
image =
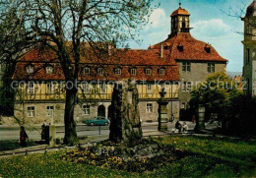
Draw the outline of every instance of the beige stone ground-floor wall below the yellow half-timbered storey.
M147 112L147 103L153 104L153 112ZM83 105L90 105L90 114L86 115L83 110ZM110 101L104 101L104 102L85 102L80 103L75 106L75 113L74 113L74 119L77 123L83 123L84 121L91 119L93 117L96 117L98 112L99 106L104 106L105 108L105 117L108 118L108 107L110 106ZM45 119L47 123L52 124L59 124L64 123L64 109L65 109L65 103L54 103L54 102L48 102L48 103L25 103L23 104L16 104L15 105L15 116L22 121L24 120L24 123L26 124L41 124L43 120ZM34 106L34 116L29 117L28 116L28 107ZM47 106L53 106L53 117L46 115L46 107ZM148 101L140 101L139 102L139 112L142 122L147 121L158 121L159 113L159 104L156 100L148 100ZM171 116L171 101L169 101L167 105L168 109L168 117ZM179 101L175 100L172 101L172 113L175 118L178 118L179 113ZM25 117L23 117L23 114ZM24 118L24 119L23 119Z

